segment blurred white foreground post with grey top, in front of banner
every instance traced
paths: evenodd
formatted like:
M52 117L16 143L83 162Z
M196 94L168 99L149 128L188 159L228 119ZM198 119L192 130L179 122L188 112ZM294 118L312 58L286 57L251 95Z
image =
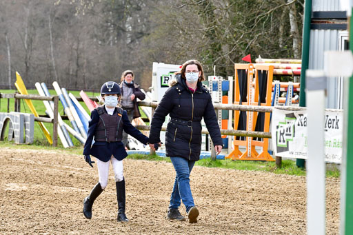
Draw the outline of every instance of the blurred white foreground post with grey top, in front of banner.
M325 235L324 115L326 77L306 70L307 105L307 234Z

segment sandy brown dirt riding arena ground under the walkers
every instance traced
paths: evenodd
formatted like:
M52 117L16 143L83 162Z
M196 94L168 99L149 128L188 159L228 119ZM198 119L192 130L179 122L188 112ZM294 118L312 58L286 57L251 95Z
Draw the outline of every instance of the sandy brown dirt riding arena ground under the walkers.
M306 234L303 176L195 166L200 216L189 224L166 219L171 163L125 159L124 172L130 222L117 222L112 169L88 220L82 202L98 181L97 165L63 152L0 148L0 234ZM326 234L339 234L339 179L326 185Z

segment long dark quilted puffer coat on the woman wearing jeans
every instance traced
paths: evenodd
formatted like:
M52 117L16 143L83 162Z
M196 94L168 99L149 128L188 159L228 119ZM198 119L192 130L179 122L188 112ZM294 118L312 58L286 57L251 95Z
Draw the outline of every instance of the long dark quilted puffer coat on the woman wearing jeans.
M160 142L159 134L165 116L170 114L165 133L166 156L181 156L190 161L198 161L201 152L201 120L205 121L214 145L223 145L221 132L212 105L210 93L197 84L192 94L181 75L172 84L155 110L150 130L150 143Z

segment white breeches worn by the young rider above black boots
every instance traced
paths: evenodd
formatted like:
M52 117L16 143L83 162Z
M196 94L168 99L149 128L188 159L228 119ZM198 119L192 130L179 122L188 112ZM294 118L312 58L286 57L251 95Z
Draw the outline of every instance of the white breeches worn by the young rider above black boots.
M97 167L98 167L98 174L99 174L99 183L101 184L101 187L103 190L108 185L110 162L112 163L112 166L113 166L115 182L123 181L124 175L123 175L123 161L122 160L119 161L119 160L115 159L114 156L112 156L110 158L110 161L107 161L106 163L103 161L100 161L99 159L96 159L96 160L97 160Z

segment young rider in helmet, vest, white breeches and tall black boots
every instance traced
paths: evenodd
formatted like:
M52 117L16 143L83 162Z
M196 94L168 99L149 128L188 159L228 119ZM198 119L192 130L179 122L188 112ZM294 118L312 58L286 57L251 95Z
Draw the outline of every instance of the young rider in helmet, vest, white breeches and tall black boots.
M108 81L101 87L101 96L105 105L96 108L91 113L88 137L83 149L85 161L93 167L90 155L97 159L99 182L94 185L92 192L83 201L85 218L92 218L94 200L108 185L109 165L112 163L115 185L117 186L118 216L117 221L127 222L125 216L125 178L123 176L123 159L128 154L121 140L123 131L147 145L148 137L131 125L128 114L117 108L121 90L114 81ZM92 145L92 140L94 144ZM91 147L92 145L92 147Z

